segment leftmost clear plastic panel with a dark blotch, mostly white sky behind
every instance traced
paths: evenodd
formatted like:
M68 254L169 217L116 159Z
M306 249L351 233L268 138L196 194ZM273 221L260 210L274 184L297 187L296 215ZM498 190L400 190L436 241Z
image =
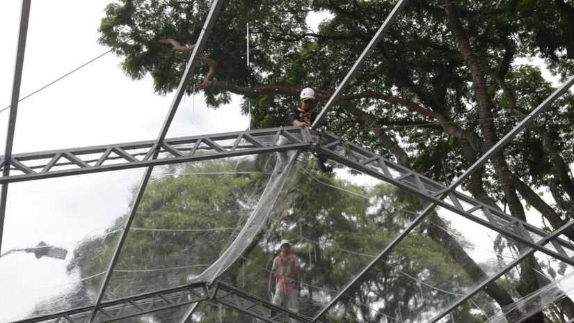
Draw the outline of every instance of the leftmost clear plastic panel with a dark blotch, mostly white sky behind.
M11 183L0 257L0 321L90 306L142 170Z

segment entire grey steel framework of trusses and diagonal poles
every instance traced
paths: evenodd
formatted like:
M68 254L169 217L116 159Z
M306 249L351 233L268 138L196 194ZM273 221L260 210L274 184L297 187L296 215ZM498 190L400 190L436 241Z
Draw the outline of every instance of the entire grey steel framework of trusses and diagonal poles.
M359 145L343 141L334 134L316 132L314 129L308 129L307 127L257 129L246 132L166 139L166 133L170 123L184 95L184 89L189 86L190 76L193 74L198 56L202 52L209 32L216 21L222 2L223 1L220 0L214 0L212 3L212 9L207 16L198 42L189 58L188 65L186 66L180 85L177 88L175 98L170 105L168 115L156 140L12 154L17 98L19 96L19 80L22 77L22 62L30 10L30 0L23 1L21 27L19 30L19 47L13 86L13 105L10 108L10 118L8 120L6 151L3 156L0 156L0 168L3 168L3 173L0 177L0 184L2 185L0 194L0 246L3 219L6 212L6 192L8 190L8 184L128 168L144 167L146 171L141 180L136 198L134 198L134 202L131 205L131 212L129 212L129 217L122 230L122 237L115 247L113 258L109 263L104 283L102 283L95 304L84 308L67 310L63 313L34 317L20 322L113 322L127 317L164 310L166 308L189 306L187 315L183 319L185 322L191 317L197 304L201 301L223 304L224 306L235 308L243 313L248 313L264 322L289 322L290 319L299 320L301 322L321 322L328 310L335 306L337 301L339 301L351 287L360 282L377 262L385 258L415 226L421 223L431 212L436 210L436 207L442 207L454 214L463 216L465 219L494 230L529 248L523 251L513 262L509 263L503 269L500 269L495 275L477 285L477 287L455 301L451 306L443 310L443 312L438 313L431 322L438 322L438 320L451 313L452 310L455 310L466 300L470 299L470 297L477 294L477 292L484 290L490 283L493 283L493 281L507 271L516 267L522 260L532 255L535 251L545 253L552 258L574 266L574 259L571 257L571 255L574 254L574 244L560 237L564 231L571 230L571 228L574 227L574 221L566 223L566 225L553 233L548 233L525 221L520 221L507 213L485 205L460 191L456 191L456 188L459 187L463 180L468 178L477 168L483 166L493 154L500 151L516 134L527 127L529 123L532 123L536 116L539 116L552 102L555 102L558 97L564 94L568 88L574 84L574 77L568 79L561 88L556 90L555 93L552 93L547 100L540 104L527 118L516 125L507 136L504 136L499 143L486 152L468 171L463 173L458 180L448 187L384 157L378 156ZM326 113L340 98L357 69L362 65L367 56L369 56L369 53L372 52L374 46L381 40L390 24L392 24L405 5L406 0L399 1L389 17L385 19L381 29L379 29L376 36L374 36L369 45L367 45L367 48L362 52L340 86L337 87L324 110L319 113L316 124L320 124L320 120L325 118ZM397 235L372 262L365 266L352 281L347 283L347 285L330 300L323 310L314 317L298 315L286 308L275 306L269 301L255 297L220 281L185 285L149 294L127 297L125 299L116 299L114 301L102 300L104 291L110 280L111 272L118 261L125 237L131 226L131 221L134 219L143 191L148 184L154 166L287 150L312 150L318 152L333 161L337 161L340 164L349 166L350 168L371 175L374 178L378 178L395 187L399 187L400 189L419 196L427 203L426 208L418 214L408 228Z

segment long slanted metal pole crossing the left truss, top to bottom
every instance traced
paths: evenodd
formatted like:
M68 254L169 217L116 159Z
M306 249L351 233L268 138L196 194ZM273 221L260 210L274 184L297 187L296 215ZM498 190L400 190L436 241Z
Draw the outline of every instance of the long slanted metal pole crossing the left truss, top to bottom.
M205 42L207 42L207 37L209 32L212 30L213 25L215 24L216 17L221 9L223 4L222 0L214 0L212 3L212 8L209 10L209 14L207 15L207 19L205 20L205 24L203 25L203 29L199 35L198 42L196 46L193 47L193 52L191 53L191 57L186 65L186 70L180 80L180 85L177 87L177 91L175 93L175 98L173 99L170 109L168 111L168 115L166 116L166 120L164 120L164 125L161 127L161 131L159 132L159 136L157 137L157 147L158 149L155 150L152 159L156 159L159 155L159 144L166 139L166 134L168 132L169 126L173 120L173 116L175 116L175 111L177 111L177 107L179 106L182 97L185 93L185 89L189 86L189 79L191 75L193 75L193 70L196 68L196 63L199 59L200 53L203 51L203 47L205 46ZM131 205L131 211L129 212L129 217L125 223L124 230L122 232L122 237L118 241L117 246L115 247L115 251L113 253L111 262L109 263L108 271L106 271L106 276L104 278L104 282L102 283L102 287L99 290L99 294L97 296L96 302L94 304L94 308L90 313L90 317L88 317L88 322L93 322L95 319L95 315L97 312L97 308L102 303L102 299L104 298L104 292L108 286L108 283L111 278L111 274L113 273L113 268L115 264L118 262L120 258L120 251L125 243L127 238L127 233L129 232L129 227L131 226L131 222L134 220L134 216L136 211L138 210L139 203L141 202L141 198L143 197L143 192L145 191L145 187L148 185L148 181L150 180L150 176L152 175L153 166L150 166L146 169L145 174L141 180L140 187L138 189L138 194L134 199L134 202Z

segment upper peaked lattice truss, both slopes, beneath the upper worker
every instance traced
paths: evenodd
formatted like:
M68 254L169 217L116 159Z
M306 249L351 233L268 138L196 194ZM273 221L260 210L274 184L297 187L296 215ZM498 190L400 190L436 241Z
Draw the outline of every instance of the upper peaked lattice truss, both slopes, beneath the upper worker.
M98 152L101 157L97 161L84 160L83 163L67 162L70 169L54 170L52 174L51 169L47 166L45 172L42 173L28 173L24 175L15 175L19 178L9 176L8 178L0 178L0 183L18 181L18 180L32 180L37 178L57 177L65 175L76 175L78 173L94 173L97 171L112 171L117 169L136 168L141 166L161 165L161 164L175 164L185 161L205 160L221 157L231 157L239 155L258 154L262 152L285 151L291 149L305 149L310 148L312 141L308 139L305 133L306 129L301 127L286 127L277 129L264 129L252 130L249 132L234 132L230 134L216 134L211 136L192 136L177 139L167 139L162 147L168 147L161 150L162 156L158 159L136 159L135 153L132 150L144 148L141 154L149 155L154 151L153 141L145 141L138 143L129 143L121 145L98 146L90 148L78 148L75 150L61 150L51 152L38 152L32 154L19 154L14 155L13 160L24 164L29 160L38 159L51 159L45 164L61 165L60 161L53 161L58 155L74 155L78 159L83 156L93 156L91 154ZM285 137L288 143L285 145L278 145L280 136ZM245 140L244 140L245 139ZM223 143L227 141L227 143ZM242 144L243 143L243 144ZM338 161L347 166L356 168L360 171L365 171L369 175L376 178L390 182L391 184L406 189L422 198L429 200L431 203L436 203L446 210L460 214L471 221L480 223L487 228L491 228L502 235L511 237L513 239L531 246L543 253L547 253L554 258L557 258L568 265L574 265L574 261L568 257L566 251L574 251L574 244L564 241L564 239L555 239L555 243L551 246L541 247L536 245L535 241L543 239L548 235L544 230L536 228L529 223L520 221L513 216L500 212L493 207L480 203L459 191L449 191L448 187L444 184L435 182L429 178L419 175L408 168L389 161L383 157L375 155L363 148L352 143L344 143L341 139L333 134L324 133L321 139L321 144L315 146L315 149L326 157ZM116 160L120 159L117 164L103 164L106 158L111 157L111 151L121 151L122 157L116 156ZM181 153L181 155L180 155ZM184 155L186 153L186 155ZM133 157L132 158L130 158ZM134 160L136 159L136 160ZM81 159L83 160L83 159ZM93 163L94 166L90 166ZM86 166L85 164L88 164ZM96 165L98 164L98 165ZM83 166L80 166L83 165ZM32 166L26 166L31 168ZM42 165L38 166L42 167ZM26 178L24 178L26 176ZM447 194L447 198L443 200L440 198L443 194Z

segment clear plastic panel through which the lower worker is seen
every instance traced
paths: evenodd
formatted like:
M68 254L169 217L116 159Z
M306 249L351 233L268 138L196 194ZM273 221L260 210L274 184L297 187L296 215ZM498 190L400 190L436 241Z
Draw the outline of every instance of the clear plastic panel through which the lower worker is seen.
M300 155L264 230L221 278L271 301L271 265L288 239L302 271L296 310L306 317L325 308L421 208L418 198L380 180L333 161L326 165L333 172L322 173L316 162Z

